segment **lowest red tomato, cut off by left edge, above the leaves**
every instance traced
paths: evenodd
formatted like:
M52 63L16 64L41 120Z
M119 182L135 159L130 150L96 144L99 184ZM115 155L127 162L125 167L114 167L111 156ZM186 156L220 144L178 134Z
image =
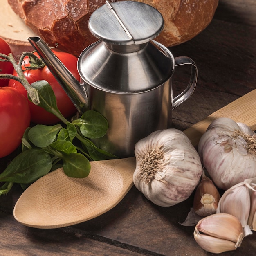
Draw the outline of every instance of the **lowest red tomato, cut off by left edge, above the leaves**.
M0 158L18 148L29 124L27 99L14 88L0 88Z

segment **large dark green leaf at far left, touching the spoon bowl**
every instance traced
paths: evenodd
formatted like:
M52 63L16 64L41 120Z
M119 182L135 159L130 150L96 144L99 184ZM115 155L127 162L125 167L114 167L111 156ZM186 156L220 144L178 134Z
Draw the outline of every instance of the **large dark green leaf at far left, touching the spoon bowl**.
M17 155L0 174L0 181L32 183L52 168L52 159L41 149L26 150Z

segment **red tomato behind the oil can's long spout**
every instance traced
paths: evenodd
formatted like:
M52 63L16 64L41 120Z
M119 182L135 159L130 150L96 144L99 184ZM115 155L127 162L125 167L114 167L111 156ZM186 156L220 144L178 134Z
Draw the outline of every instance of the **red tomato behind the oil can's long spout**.
M68 54L65 52L57 52L57 51L53 51L53 52L61 60L61 62L70 70L70 72L76 77L76 79L79 80L80 76L76 67L77 58L72 54ZM34 53L34 54L38 56L37 53ZM29 66L29 61L27 57L24 59L24 62L26 66ZM13 75L17 76L17 73L14 71ZM58 109L61 111L62 115L65 118L68 118L76 113L77 110L74 104L72 103L70 98L62 89L61 85L57 82L57 80L54 78L54 76L46 66L36 70L26 70L24 71L24 75L30 84L38 80L46 80L52 86L52 89L56 96ZM22 93L23 95L25 95L25 97L27 97L27 91L25 90L25 88L22 86L21 83L15 80L10 80L9 86L16 88L20 93ZM29 108L31 112L31 121L33 123L49 125L49 124L58 123L60 121L55 115L47 112L46 110L44 110L39 106L34 105L29 100L28 102L29 102Z

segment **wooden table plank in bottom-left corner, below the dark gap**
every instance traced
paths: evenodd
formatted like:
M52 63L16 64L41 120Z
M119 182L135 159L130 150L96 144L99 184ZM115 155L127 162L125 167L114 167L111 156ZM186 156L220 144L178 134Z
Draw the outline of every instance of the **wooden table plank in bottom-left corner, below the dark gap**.
M139 248L122 248L121 243L111 245L111 240L86 231L65 229L32 229L17 223L11 215L0 212L2 256L57 256L57 255L129 255L139 256ZM137 252L136 252L137 250ZM107 253L105 253L107 252ZM147 252L145 250L145 252ZM148 252L150 255L150 252Z

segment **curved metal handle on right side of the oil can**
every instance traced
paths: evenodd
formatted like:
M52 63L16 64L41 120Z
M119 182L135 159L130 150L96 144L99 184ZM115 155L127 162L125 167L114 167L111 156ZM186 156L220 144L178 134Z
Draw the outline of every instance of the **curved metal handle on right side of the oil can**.
M195 85L198 78L198 68L195 65L195 62L191 58L186 56L180 56L175 58L176 67L181 65L187 65L187 64L191 65L191 74L190 74L189 84L181 94L179 94L173 99L173 103L172 103L173 109L179 106L181 103L183 103L187 99L189 99L189 97L193 94L195 90Z

